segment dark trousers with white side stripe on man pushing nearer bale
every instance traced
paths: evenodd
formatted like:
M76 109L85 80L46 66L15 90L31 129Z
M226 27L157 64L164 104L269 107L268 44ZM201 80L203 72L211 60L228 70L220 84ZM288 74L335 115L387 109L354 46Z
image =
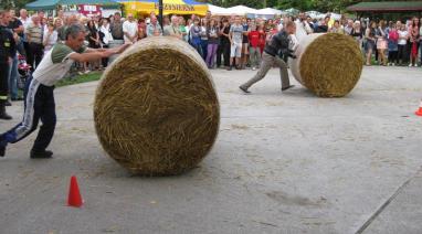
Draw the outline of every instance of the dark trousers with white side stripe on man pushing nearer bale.
M28 81L24 92L24 115L22 123L4 132L2 141L15 143L33 132L41 119L42 126L38 132L32 151L45 150L53 139L56 115L54 102L54 86L42 85L32 77Z

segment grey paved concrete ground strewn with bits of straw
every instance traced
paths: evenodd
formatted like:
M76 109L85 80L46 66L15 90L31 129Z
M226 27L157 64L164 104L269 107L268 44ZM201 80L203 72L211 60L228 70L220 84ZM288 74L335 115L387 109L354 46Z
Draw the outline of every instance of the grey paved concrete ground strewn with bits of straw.
M217 143L170 178L131 177L105 156L96 83L56 89L54 159L29 159L34 136L0 159L0 233L422 233L421 68L367 67L337 99L282 94L276 70L252 95L238 86L253 72L213 75ZM72 174L82 209L65 205Z

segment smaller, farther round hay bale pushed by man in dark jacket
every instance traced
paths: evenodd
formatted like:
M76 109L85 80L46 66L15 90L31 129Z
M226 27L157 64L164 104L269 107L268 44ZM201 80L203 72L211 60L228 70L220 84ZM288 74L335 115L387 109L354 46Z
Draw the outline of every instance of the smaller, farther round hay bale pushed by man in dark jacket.
M354 38L338 33L309 34L289 60L295 78L320 97L342 97L358 83L362 53Z

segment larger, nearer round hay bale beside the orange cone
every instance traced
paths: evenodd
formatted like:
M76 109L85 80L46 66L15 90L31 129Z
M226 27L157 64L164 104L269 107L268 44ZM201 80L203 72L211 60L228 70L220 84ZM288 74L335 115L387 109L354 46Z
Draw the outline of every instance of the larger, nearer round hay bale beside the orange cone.
M137 174L179 174L213 146L219 100L199 54L172 38L137 42L104 72L94 106L103 148Z

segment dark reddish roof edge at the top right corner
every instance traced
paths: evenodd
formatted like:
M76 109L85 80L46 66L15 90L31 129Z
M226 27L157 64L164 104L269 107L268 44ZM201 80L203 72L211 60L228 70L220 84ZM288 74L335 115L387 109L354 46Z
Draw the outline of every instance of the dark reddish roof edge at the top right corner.
M422 1L360 2L348 7L347 10L356 12L422 11Z

